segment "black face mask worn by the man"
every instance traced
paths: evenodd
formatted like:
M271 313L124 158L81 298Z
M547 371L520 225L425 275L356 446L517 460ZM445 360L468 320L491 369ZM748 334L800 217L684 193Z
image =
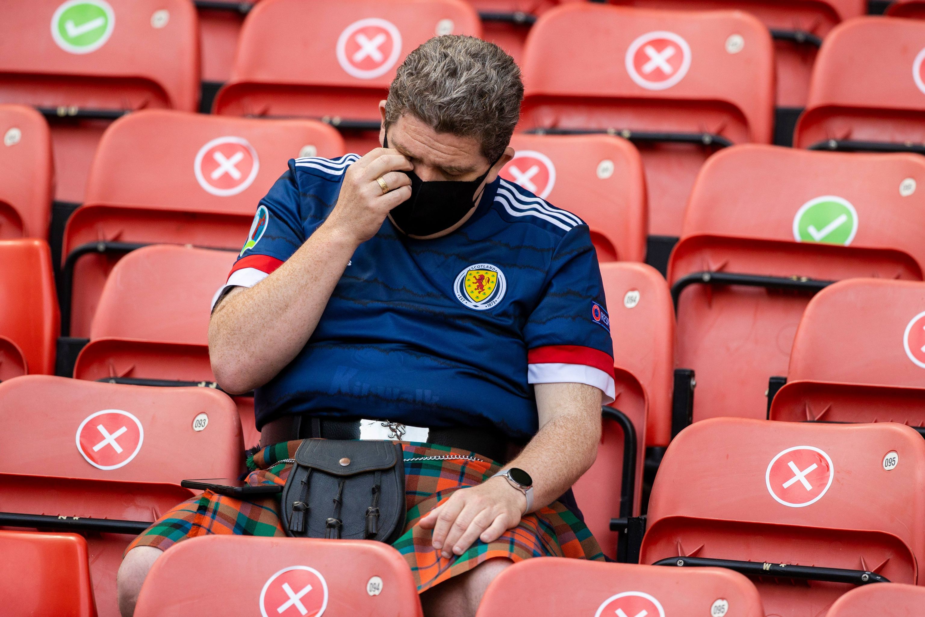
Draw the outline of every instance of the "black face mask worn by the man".
M383 140L388 148L388 135ZM425 237L450 229L475 208L475 191L486 179L496 159L475 180L424 182L413 171L403 171L411 178L411 197L388 213L401 232Z

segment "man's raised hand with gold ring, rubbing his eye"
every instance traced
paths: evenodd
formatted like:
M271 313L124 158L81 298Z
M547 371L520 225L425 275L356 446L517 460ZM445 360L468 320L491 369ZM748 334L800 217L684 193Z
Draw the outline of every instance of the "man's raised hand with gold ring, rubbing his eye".
M386 220L388 211L411 196L411 179L401 170L414 169L398 150L376 148L347 168L338 203L327 217L329 231L343 234L357 246L369 240ZM381 177L388 188L376 182Z

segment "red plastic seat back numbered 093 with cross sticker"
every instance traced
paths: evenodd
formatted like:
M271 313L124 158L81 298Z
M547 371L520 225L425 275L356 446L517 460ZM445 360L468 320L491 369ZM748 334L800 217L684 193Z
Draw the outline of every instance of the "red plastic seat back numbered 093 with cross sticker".
M240 473L237 409L209 388L27 375L0 384L0 426L16 435L4 472L173 484Z

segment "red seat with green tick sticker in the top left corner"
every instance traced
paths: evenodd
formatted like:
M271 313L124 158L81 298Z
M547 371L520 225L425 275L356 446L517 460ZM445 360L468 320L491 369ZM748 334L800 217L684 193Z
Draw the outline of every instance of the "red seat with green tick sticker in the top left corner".
M4 8L0 102L39 107L53 120L57 199L83 201L93 151L111 120L151 107L195 111L199 44L188 0L31 0Z

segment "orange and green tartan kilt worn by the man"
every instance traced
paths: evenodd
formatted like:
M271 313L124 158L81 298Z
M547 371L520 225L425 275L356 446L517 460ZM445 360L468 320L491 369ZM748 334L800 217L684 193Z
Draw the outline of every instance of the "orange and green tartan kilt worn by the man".
M253 470L247 476L248 484L285 485L292 465L278 461L292 459L301 443L283 442L253 455L253 459L248 460L248 467ZM420 528L418 521L453 491L481 484L500 467L484 460L462 458L419 460L448 455L478 457L467 450L409 442L401 442L401 447L407 515L404 533L392 546L411 567L418 593L496 557L515 562L531 557L604 560L597 540L585 523L558 501L527 514L516 527L494 542L476 540L462 555L442 557L430 544L431 531ZM166 550L176 542L199 535L286 535L278 511L279 496L241 500L205 491L167 511L136 537L126 552L136 547Z

